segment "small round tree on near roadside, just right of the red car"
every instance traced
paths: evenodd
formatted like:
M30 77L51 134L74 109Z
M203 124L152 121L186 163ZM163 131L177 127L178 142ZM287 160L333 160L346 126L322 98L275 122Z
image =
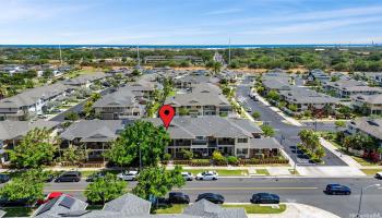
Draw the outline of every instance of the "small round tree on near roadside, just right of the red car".
M87 185L85 196L93 204L105 204L126 193L127 182L119 180L117 175L107 173L105 177L97 178Z

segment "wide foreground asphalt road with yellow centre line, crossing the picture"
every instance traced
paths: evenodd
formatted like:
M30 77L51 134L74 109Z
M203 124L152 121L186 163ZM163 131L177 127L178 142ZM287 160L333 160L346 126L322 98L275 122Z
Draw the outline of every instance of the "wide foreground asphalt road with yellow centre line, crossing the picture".
M227 203L249 203L253 193L268 192L278 194L282 202L302 203L332 211L341 217L357 213L360 189L382 181L372 178L362 179L309 179L309 178L220 178L217 181L191 181L180 189L194 202L198 194L205 192L219 193ZM348 185L351 195L326 195L323 193L327 183ZM45 191L61 191L85 199L83 191L88 183L48 183ZM136 182L129 182L132 189ZM370 187L363 191L362 213L381 213L382 187Z

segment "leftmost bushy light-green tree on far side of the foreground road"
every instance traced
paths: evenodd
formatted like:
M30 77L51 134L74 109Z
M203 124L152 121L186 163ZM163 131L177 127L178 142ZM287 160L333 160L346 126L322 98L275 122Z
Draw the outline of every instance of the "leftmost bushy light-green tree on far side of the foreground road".
M11 164L16 168L38 168L51 162L59 145L47 129L34 129L26 133L13 150L9 150Z

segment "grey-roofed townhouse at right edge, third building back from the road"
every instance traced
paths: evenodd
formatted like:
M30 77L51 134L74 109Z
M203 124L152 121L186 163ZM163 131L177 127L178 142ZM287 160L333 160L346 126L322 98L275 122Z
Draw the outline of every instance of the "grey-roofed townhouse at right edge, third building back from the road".
M353 95L375 95L381 94L381 87L370 87L366 82L356 81L353 78L342 78L336 82L325 82L323 87L326 93L338 98L350 98Z

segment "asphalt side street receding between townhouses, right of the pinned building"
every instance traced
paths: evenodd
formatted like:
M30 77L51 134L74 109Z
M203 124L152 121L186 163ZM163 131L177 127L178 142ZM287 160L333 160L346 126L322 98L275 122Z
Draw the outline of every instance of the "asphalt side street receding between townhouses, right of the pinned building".
M302 129L312 129L318 131L334 131L335 125L333 123L318 122L308 123L306 126L296 126L283 122L283 118L271 110L268 106L263 105L260 101L254 101L248 97L250 92L251 83L249 80L244 80L242 84L238 85L236 95L237 98L244 99L246 107L250 107L252 111L259 111L261 113L261 120L272 125L276 130L275 137L280 142L284 147L284 150L298 164L298 165L315 165L312 162L307 155L301 150L297 149L296 155L296 145L300 142L298 133ZM326 156L323 158L324 166L346 166L346 164L341 160L337 156L325 148Z

